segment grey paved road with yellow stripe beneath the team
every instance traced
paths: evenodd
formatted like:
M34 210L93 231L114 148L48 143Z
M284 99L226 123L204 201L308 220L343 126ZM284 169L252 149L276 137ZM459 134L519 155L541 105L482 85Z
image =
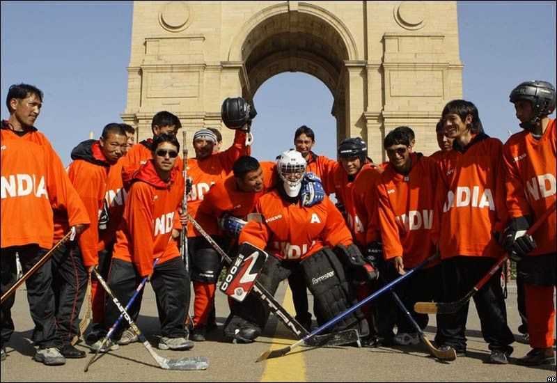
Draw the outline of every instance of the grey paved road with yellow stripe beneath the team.
M277 297L285 308L294 312L290 292L281 283ZM286 298L285 298L286 297ZM310 304L311 306L311 304ZM163 357L203 355L210 359L204 371L162 370L143 345L134 343L97 359L84 373L86 359L69 359L65 366L47 367L31 357L35 353L30 343L33 328L26 302L26 292L20 288L13 308L16 332L8 343L8 358L1 362L1 382L548 382L556 376L552 365L528 368L516 364L495 366L486 364L487 344L480 334L475 306L471 304L468 330L468 357L450 363L429 356L423 344L406 347L296 347L284 357L255 363L269 347L282 348L295 343L288 330L274 318L269 320L263 336L256 343L233 345L222 336L222 325L228 314L226 297L217 292L217 322L219 330L207 336L208 341L196 343L185 352L162 351ZM507 300L510 327L517 334L519 316L516 309L516 286L509 286ZM159 322L155 298L150 286L143 298L139 328L153 345L158 343ZM425 333L433 340L435 318ZM517 334L518 335L518 334ZM512 357L522 357L528 345L515 342ZM81 342L77 347L86 350ZM555 348L555 347L554 347Z

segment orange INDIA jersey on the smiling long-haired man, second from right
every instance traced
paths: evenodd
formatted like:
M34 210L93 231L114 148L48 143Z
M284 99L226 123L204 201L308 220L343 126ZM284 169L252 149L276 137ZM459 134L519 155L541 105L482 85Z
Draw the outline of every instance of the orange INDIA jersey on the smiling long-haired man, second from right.
M464 153L450 150L441 162L435 193L440 221L432 234L441 259L503 255L492 233L503 235L508 219L502 150L499 139L479 133Z

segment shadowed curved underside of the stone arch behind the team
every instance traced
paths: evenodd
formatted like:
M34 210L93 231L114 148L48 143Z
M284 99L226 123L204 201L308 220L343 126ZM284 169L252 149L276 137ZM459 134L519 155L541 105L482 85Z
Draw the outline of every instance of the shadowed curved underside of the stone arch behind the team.
M342 36L315 15L280 13L262 20L242 44L242 94L247 100L267 79L283 72L304 72L327 86L334 97L330 111L336 118L337 143L347 136L345 61L348 49Z

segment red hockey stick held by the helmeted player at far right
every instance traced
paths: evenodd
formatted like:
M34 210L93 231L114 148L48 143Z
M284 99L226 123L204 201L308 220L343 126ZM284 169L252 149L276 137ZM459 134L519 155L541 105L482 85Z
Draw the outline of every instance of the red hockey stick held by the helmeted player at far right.
M535 224L533 224L531 226L531 228L529 228L528 231L526 231L526 235L532 235L533 233L535 233L535 231L538 230L538 228L544 223L544 221L547 219L547 217L549 217L551 215L551 213L555 211L555 208L556 208L556 203L554 202L554 203L551 204L551 206L549 206L549 209L547 209L547 211L544 212L542 217L540 217L538 219L538 221L535 221ZM482 288L482 286L487 281L489 281L489 279L493 276L493 274L495 274L497 272L497 270L499 270L501 265L503 265L503 263L505 263L507 258L508 258L508 255L507 255L507 253L505 253L495 263L495 265L493 265L493 267L489 270L489 272L487 272L487 274L485 274L485 276L482 279L480 279L480 281L478 283L476 283L476 286L474 286L472 288L472 290L470 290L461 299L459 299L455 302L416 302L416 304L414 304L414 311L416 311L416 313L421 313L421 314L452 314L452 313L456 313L457 311L460 310L460 308L462 306L464 306L464 304L466 304L466 302L468 302L470 300L471 297L473 297L474 294L476 294L476 292L478 292L478 290L480 290L480 288Z

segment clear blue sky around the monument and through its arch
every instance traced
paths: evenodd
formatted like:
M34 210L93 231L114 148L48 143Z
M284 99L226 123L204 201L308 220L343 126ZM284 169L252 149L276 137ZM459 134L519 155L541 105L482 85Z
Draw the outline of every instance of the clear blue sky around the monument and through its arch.
M121 122L130 63L132 1L1 1L2 104L11 84L45 93L36 126L63 163L89 132ZM517 132L508 95L521 81L556 84L555 1L457 1L463 93L476 104L486 132L502 141ZM255 96L252 154L274 159L308 125L315 152L336 157L333 97L303 73L269 79ZM1 118L8 118L1 107ZM419 137L418 149L419 149Z

